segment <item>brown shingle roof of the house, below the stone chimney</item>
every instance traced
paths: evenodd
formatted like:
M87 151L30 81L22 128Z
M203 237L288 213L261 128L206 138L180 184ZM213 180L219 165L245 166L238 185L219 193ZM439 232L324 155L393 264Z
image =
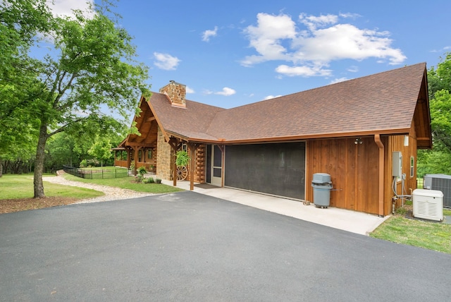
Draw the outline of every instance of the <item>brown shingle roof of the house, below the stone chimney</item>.
M192 140L225 142L407 133L426 64L416 64L275 99L221 109L165 95L150 102L163 128Z

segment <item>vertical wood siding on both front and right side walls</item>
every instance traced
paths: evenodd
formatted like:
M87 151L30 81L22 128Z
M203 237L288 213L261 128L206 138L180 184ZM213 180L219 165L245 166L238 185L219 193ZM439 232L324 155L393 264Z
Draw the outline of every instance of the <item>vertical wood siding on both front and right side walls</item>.
M409 145L404 146L404 135L383 135L384 198L383 215L393 210L393 152L402 152L402 173L406 174L404 192L402 183L396 183L397 194L411 195L416 188L416 136L412 125ZM357 137L356 137L357 138ZM335 138L307 141L306 200L313 200L311 180L315 173L330 174L333 191L330 206L378 215L378 146L373 136L362 138ZM414 157L414 175L410 176L410 157ZM395 208L402 205L398 199Z

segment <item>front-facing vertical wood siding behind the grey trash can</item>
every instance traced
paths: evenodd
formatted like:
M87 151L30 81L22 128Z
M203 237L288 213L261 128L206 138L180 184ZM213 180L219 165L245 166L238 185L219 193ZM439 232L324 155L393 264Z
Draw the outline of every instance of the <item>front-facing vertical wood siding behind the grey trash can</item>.
M378 214L378 146L373 137L310 140L307 142L307 194L313 201L311 179L330 174L330 206Z

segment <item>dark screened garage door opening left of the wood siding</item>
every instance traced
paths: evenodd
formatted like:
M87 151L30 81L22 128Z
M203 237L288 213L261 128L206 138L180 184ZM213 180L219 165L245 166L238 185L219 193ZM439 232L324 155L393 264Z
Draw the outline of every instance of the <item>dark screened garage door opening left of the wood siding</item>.
M225 185L304 199L305 143L226 146Z

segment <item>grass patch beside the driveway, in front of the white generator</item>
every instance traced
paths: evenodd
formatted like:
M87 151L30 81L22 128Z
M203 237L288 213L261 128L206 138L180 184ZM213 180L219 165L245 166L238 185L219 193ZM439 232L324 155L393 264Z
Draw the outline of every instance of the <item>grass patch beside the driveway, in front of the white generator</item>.
M405 211L387 219L370 236L395 243L407 244L451 254L451 224L406 218ZM451 210L443 210L451 216Z

